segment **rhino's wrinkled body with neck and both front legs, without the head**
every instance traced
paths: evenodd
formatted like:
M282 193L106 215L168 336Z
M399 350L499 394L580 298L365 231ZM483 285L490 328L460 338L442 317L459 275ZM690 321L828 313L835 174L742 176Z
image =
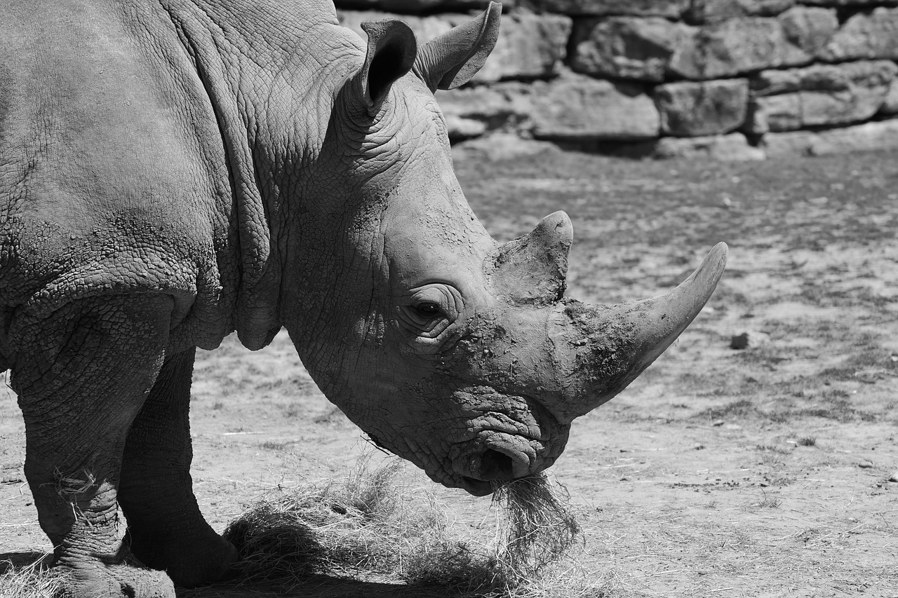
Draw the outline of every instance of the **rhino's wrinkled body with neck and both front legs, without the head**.
M145 565L234 558L189 490L193 347L280 328L281 189L364 45L330 4L201 0L5 3L0 40L0 370L40 524L70 595L173 596Z

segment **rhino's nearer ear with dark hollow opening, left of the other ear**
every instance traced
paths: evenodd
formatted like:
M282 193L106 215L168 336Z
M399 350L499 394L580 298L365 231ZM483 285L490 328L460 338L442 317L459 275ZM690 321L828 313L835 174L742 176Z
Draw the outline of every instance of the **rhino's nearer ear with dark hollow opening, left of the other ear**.
M358 76L365 105L371 108L383 101L390 86L411 70L418 42L409 25L397 19L366 21L362 30L368 35L368 48Z

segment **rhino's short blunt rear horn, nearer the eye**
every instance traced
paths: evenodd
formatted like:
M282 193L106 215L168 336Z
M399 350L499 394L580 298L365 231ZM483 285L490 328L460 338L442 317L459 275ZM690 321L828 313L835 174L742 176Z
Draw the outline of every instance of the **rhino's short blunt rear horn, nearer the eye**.
M548 305L564 295L574 229L564 212L543 218L529 234L499 247L489 279L511 303Z

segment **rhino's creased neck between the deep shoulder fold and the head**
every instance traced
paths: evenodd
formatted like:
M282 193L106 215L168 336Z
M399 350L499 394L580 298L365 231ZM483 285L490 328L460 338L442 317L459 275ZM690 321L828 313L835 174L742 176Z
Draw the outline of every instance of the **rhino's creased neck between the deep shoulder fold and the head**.
M243 345L264 347L281 326L283 198L297 183L285 173L319 153L335 90L357 68L361 42L339 27L329 2L160 4L196 68L225 151L233 194L225 217L239 270L233 325Z

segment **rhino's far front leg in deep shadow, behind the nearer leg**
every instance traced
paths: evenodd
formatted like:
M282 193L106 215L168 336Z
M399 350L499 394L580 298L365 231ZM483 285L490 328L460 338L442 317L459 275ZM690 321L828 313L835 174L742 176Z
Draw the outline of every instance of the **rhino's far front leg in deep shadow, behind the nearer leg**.
M237 550L199 512L190 479L189 400L195 348L165 360L131 425L119 482L131 552L178 585L221 579Z

